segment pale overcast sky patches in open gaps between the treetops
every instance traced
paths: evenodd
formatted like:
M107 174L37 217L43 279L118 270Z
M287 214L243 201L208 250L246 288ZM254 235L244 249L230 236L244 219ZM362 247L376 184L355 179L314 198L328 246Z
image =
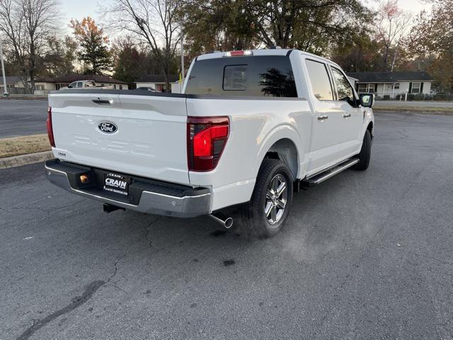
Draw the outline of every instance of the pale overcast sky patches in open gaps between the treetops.
M100 13L98 13L99 4L108 5L111 0L61 0L62 3L62 23L67 27L71 18L81 19L84 16L91 16L96 21L100 21ZM423 1L423 0L422 0ZM430 9L428 1L424 0L398 0L398 4L406 11L411 11L416 14L423 9ZM375 7L377 1L362 0L367 6ZM69 33L69 29L68 29Z

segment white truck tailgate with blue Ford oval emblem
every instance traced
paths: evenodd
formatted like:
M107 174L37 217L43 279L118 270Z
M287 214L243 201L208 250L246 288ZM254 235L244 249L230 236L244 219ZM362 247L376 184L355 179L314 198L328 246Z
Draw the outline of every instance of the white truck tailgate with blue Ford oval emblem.
M49 96L55 157L122 174L189 183L183 96L85 92Z

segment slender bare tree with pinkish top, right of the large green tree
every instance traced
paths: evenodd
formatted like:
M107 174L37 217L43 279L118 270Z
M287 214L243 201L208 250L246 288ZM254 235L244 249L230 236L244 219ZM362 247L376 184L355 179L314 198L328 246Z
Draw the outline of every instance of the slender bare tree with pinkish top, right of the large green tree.
M384 46L384 54L382 55L384 68L389 68L391 71L394 70L396 55L401 45L401 40L408 30L410 23L411 15L398 7L398 0L387 0L379 4L374 28L376 30L377 40L382 42ZM389 67L392 48L394 55Z

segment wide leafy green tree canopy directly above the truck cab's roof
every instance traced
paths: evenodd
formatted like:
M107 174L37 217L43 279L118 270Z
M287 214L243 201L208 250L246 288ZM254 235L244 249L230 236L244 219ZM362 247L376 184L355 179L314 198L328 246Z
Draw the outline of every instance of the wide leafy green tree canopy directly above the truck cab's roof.
M180 13L188 40L204 51L264 44L326 54L372 21L359 0L188 0Z

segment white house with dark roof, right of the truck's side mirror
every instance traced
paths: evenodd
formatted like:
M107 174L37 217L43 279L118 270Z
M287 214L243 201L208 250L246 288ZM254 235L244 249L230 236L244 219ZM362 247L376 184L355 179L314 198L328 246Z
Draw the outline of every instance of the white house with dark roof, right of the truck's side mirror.
M432 77L426 72L348 72L355 89L377 98L404 98L406 94L430 94Z

